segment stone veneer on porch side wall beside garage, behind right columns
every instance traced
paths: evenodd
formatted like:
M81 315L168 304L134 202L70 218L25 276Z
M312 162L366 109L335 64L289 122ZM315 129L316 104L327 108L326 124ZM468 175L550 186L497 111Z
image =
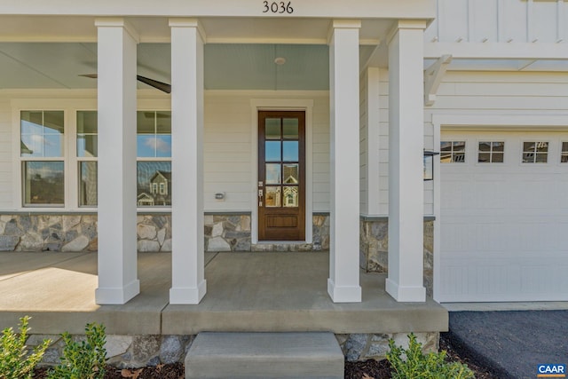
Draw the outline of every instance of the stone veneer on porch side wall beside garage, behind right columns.
M367 272L387 272L389 267L389 222L386 217L361 218L359 265ZM434 281L434 221L424 221L424 287L432 296Z

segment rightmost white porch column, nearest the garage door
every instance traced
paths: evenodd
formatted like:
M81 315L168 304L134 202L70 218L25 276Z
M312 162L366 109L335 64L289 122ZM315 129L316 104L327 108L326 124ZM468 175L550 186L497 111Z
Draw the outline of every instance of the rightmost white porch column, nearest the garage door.
M423 302L425 21L398 21L389 39L389 275L399 302Z

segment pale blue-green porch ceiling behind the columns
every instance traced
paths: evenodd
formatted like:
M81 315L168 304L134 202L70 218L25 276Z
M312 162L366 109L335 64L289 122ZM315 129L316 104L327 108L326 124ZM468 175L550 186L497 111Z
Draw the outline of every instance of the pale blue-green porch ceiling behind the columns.
M361 65L374 50L359 48ZM274 59L286 59L276 65ZM170 43L138 44L138 75L170 83ZM0 43L0 89L96 89L97 43ZM210 43L208 90L327 91L325 44ZM138 83L139 88L150 88Z

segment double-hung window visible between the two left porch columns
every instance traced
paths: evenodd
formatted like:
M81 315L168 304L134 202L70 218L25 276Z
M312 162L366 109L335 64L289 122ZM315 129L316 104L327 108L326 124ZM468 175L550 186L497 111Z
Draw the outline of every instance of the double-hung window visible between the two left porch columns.
M171 112L137 113L138 207L171 206Z

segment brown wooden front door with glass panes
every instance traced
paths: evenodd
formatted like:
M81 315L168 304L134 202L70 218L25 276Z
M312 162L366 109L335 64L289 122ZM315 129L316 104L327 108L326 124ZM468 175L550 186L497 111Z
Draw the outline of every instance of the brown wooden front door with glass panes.
M258 240L305 240L305 113L258 112Z

